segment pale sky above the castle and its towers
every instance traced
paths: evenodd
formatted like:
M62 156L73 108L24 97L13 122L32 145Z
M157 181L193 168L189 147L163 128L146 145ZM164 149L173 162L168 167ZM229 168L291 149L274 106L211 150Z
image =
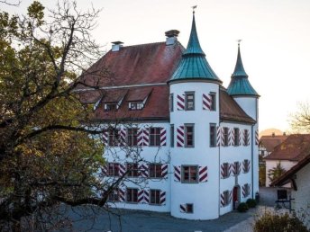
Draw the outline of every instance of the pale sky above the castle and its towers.
M164 41L164 32L180 31L187 46L192 5L196 28L210 66L227 87L242 39L242 61L251 85L260 94L260 130L288 130L296 103L310 101L310 0L77 0L83 9L103 8L94 38L105 49ZM25 13L32 0L10 13ZM41 0L47 7L56 1Z

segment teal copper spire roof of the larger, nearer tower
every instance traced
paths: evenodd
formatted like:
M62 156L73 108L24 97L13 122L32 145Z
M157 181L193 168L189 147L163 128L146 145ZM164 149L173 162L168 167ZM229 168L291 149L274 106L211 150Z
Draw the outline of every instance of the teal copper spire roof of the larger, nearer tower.
M208 64L205 58L205 52L200 47L196 31L195 13L193 13L192 30L187 49L183 53L182 59L169 82L196 79L222 83Z

